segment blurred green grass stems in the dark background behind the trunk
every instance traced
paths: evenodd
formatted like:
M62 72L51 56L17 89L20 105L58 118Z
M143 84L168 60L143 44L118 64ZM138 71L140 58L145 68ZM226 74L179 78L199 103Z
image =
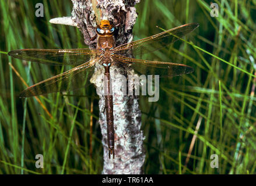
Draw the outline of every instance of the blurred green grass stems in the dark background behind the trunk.
M34 15L44 4L44 17ZM0 1L0 174L99 174L103 168L96 90L19 99L26 86L71 67L11 59L22 48L85 48L78 28L48 23L71 15L71 1ZM210 3L219 5L211 17ZM160 81L160 99L141 96L146 135L146 174L255 174L255 30L256 1L141 0L134 39L185 23L200 26L169 48L146 55L149 60L184 63L192 74ZM69 94L67 92L66 94ZM90 104L93 103L93 114ZM93 158L89 155L93 116ZM22 131L25 133L22 133ZM72 132L71 132L72 131ZM34 166L44 155L44 169ZM211 167L211 155L219 168Z

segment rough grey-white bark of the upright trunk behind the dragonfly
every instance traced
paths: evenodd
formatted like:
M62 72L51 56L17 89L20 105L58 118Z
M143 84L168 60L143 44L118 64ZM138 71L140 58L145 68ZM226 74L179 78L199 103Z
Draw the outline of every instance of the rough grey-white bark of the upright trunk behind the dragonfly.
M85 44L90 48L96 48L96 41L91 41L96 33L95 27L100 20L107 19L118 26L115 35L116 46L132 40L132 27L136 21L135 4L139 0L72 0L72 20L79 27L85 39ZM99 13L100 12L100 13ZM115 78L116 74L125 76L134 75L129 66L118 65L110 67L111 84L114 104L114 129L115 129L115 159L108 159L107 146L107 121L104 111L104 69L101 65L95 65L95 73L91 83L96 85L97 94L100 96L100 127L103 135L104 167L102 174L142 174L142 166L145 161L143 140L141 131L141 110L139 110L139 98L135 95L124 95L120 90L122 83ZM134 85L130 84L134 88Z

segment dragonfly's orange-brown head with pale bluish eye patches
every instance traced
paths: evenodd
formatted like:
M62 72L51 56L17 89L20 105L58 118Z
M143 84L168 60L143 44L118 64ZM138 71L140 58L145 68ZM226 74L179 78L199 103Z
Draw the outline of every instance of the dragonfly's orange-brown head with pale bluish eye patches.
M96 28L97 34L101 37L111 37L114 35L115 28L108 20L101 20Z

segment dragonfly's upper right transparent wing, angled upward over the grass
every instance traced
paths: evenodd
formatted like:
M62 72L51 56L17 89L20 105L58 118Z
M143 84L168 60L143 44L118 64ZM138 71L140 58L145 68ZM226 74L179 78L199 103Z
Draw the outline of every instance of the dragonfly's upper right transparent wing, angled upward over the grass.
M166 47L172 42L177 41L184 35L195 30L195 28L197 28L198 26L198 23L184 24L183 26L172 28L162 33L143 38L141 40L132 41L128 42L127 44L120 45L114 48L114 53L122 54L129 50L132 50L134 55L153 52L160 48Z

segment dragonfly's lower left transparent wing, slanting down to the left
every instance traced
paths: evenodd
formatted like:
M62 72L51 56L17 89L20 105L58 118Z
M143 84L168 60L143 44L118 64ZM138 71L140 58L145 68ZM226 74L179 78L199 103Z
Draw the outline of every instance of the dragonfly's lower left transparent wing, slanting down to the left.
M59 91L71 91L85 87L94 72L92 67L99 59L93 59L57 76L48 78L24 90L19 96L27 98Z

